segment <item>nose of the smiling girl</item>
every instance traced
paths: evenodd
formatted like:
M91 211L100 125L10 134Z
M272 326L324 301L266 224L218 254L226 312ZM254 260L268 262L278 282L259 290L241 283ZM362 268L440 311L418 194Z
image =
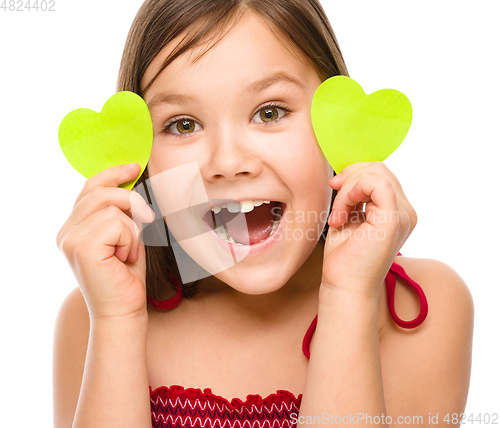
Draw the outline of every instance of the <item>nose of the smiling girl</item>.
M252 150L248 132L238 126L221 126L211 136L205 179L236 180L257 176L261 169L258 153Z

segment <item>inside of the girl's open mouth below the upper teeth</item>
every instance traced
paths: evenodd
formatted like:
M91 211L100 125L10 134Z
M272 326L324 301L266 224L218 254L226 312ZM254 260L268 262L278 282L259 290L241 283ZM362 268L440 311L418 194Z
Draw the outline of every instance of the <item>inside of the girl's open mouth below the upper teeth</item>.
M253 211L245 213L245 219L247 222L246 228L239 227L231 223L231 220L237 214L231 214L224 209L220 212L220 215L222 216L222 221L226 224L231 238L240 244L254 245L263 239L268 238L271 234L275 219L275 215L272 210L280 205L281 204L279 202L262 204L260 207L255 207Z

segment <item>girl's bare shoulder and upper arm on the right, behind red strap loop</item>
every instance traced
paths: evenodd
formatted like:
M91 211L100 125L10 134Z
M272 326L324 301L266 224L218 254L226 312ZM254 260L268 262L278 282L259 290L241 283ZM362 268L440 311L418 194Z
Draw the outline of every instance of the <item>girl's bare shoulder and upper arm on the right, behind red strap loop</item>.
M388 385L387 410L408 413L410 409L401 404L406 403L415 414L431 409L443 414L461 413L472 358L474 304L470 290L445 263L406 257L397 257L395 262L422 288L428 314L415 329L403 329L394 322L388 322L384 329L380 348L384 385ZM411 291L402 292L401 284L398 280L396 312L402 319L412 319L418 299L416 293L411 297ZM418 306L416 309L418 313ZM402 316L404 311L412 316ZM398 385L412 385L412 390L402 392ZM446 396L443 390L448 391Z

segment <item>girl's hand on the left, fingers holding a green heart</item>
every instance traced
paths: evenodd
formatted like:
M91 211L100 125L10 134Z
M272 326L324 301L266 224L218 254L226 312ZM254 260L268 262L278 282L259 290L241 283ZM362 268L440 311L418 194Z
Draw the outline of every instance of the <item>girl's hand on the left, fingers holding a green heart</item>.
M118 187L137 177L140 165L133 165L89 178L57 234L91 319L147 315L146 252L134 220L150 223L154 214L139 193Z

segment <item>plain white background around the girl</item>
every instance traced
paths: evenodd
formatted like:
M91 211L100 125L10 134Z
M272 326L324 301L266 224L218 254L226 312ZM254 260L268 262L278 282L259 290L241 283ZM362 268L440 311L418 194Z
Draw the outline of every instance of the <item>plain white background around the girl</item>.
M55 3L0 10L1 426L52 425L54 322L77 285L55 239L85 181L57 130L115 92L141 1ZM468 414L500 413L497 4L323 0L351 77L412 102L410 132L386 163L419 214L403 254L449 264L474 297Z

